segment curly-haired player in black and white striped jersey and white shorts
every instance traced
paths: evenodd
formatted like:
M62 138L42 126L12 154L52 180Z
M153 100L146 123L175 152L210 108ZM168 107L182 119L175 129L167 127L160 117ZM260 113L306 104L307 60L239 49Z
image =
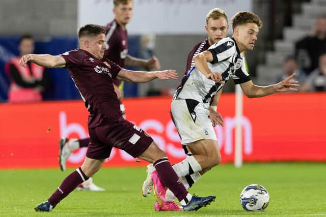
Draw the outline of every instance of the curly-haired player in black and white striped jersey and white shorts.
M292 81L292 74L281 82L269 86L253 84L243 55L246 50L253 50L259 29L260 18L251 12L238 12L232 18L233 37L220 40L194 57L195 67L183 78L182 85L176 90L171 104L171 114L181 144L187 145L193 154L173 166L186 188L190 188L200 174L219 165L221 153L216 140L212 122L208 117L211 98L223 88L232 77L235 84L240 84L249 98L264 97L275 92L297 90L300 86ZM159 205L167 202L166 187L161 187L156 171L151 174L154 193ZM187 177L191 177L191 179Z

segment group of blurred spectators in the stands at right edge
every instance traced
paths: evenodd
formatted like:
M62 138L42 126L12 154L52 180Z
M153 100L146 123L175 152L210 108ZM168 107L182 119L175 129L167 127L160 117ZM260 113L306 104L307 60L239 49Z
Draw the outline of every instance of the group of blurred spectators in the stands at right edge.
M326 16L319 16L310 34L295 42L295 52L284 59L277 82L292 73L300 91L326 91Z

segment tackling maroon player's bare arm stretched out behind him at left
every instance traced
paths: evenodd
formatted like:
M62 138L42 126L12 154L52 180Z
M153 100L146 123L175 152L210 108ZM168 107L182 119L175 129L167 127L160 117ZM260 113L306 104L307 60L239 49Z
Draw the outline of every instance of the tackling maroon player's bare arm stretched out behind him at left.
M66 60L62 56L53 56L49 54L26 54L20 58L19 64L26 67L28 62L33 62L46 68L64 68Z

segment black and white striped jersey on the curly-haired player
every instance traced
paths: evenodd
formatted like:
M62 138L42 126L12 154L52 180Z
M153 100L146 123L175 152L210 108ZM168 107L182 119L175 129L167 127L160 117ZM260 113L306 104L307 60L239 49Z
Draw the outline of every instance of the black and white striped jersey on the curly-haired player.
M207 63L211 72L222 74L225 83L232 77L235 84L250 81L251 78L244 65L244 56L239 52L233 38L225 38L208 48L213 55L213 61ZM215 83L207 79L196 66L183 78L181 86L176 90L173 99L193 99L198 102L209 103L212 96L224 84Z

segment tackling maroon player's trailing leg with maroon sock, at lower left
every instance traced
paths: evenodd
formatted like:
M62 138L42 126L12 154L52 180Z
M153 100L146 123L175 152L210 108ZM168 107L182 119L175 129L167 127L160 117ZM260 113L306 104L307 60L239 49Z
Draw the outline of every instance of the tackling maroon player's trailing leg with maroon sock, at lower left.
M95 174L101 168L103 162L104 159L97 160L86 157L82 167L70 173L47 201L40 203L35 208L35 211L51 211L62 199L67 197L78 184Z

